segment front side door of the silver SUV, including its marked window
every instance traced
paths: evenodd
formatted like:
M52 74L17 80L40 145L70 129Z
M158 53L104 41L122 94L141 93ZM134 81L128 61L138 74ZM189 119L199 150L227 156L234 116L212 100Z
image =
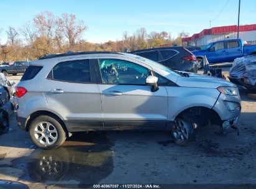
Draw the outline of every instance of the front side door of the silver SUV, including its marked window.
M160 86L158 91L151 92L151 86L145 85L151 68L125 58L101 58L99 66L102 83L98 87L105 127L135 129L166 126L166 88Z

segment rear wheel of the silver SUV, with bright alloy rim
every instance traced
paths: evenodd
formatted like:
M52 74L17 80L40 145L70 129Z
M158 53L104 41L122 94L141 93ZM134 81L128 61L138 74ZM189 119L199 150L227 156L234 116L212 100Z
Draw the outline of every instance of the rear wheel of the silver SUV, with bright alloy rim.
M39 116L31 122L29 133L32 141L42 149L56 149L66 139L66 133L57 119Z

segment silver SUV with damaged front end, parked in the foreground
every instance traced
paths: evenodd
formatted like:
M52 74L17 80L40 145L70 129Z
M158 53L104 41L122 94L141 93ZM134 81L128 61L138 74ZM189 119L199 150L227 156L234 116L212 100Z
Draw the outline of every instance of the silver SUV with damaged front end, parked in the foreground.
M77 131L166 129L187 144L211 121L224 129L240 115L229 81L174 71L112 52L49 55L31 62L16 87L17 122L44 149Z

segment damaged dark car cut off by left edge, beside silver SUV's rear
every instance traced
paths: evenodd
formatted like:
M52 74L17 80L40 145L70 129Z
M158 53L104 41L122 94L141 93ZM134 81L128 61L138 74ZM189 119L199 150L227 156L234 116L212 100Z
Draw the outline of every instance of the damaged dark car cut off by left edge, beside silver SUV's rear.
M14 93L13 81L6 79L3 73L0 73L0 134L9 131L9 115L12 114L14 101L12 94Z

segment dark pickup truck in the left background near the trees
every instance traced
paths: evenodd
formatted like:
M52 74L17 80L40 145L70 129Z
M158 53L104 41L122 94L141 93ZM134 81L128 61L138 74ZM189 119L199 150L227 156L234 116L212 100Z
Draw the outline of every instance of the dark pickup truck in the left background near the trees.
M17 73L24 73L27 67L29 67L28 62L14 62L12 65L0 67L0 70L5 76L8 74L17 75Z

